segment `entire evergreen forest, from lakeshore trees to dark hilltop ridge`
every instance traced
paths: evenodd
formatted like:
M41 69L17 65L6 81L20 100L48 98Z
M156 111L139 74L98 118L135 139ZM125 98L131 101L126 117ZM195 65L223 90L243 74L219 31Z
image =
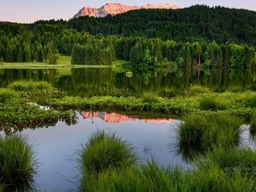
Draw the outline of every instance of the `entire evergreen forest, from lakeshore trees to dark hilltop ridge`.
M255 65L256 12L192 6L137 10L106 18L32 24L0 23L0 59L55 64L58 53L75 65L176 62L179 67L251 68Z

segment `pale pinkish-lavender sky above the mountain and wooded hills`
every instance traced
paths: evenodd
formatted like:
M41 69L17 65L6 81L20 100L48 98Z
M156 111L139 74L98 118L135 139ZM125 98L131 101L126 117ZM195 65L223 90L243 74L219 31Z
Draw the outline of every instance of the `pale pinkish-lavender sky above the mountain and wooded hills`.
M256 0L0 0L0 21L33 23L37 20L68 20L84 6L100 7L107 3L125 5L176 4L181 8L194 4L227 6L256 11Z

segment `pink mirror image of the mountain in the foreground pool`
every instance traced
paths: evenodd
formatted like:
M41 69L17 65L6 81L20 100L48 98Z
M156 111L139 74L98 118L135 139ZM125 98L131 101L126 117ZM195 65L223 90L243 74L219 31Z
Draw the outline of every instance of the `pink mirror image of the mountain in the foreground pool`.
M132 116L127 114L118 114L115 112L81 112L84 119L100 118L107 123L118 123L125 121L143 121L143 122L153 122L153 123L171 123L176 121L172 118L144 118L139 116Z

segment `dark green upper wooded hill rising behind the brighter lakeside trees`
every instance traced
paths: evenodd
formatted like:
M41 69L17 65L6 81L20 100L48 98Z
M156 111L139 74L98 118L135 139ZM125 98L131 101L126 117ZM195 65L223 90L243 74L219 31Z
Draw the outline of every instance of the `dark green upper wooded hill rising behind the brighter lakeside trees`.
M70 21L38 21L62 24L65 28L92 35L144 36L174 41L216 41L247 43L256 46L256 12L217 6L191 6L178 10L136 10L105 18L80 17Z

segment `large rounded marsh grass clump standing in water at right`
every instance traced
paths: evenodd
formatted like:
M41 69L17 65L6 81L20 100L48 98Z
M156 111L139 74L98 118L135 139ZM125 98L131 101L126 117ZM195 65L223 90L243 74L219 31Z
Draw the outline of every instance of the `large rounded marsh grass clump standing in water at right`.
M184 118L184 122L181 122L177 129L177 151L186 156L183 153L186 152L189 155L190 150L203 153L214 146L236 146L240 144L241 125L242 121L238 117L221 114L207 116L191 114Z

